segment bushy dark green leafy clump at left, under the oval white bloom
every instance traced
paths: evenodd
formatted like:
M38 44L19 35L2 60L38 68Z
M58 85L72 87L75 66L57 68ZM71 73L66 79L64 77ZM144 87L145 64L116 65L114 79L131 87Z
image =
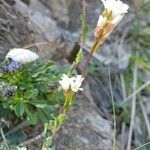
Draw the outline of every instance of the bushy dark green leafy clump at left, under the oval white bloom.
M9 99L1 98L1 111L14 113L11 118L21 117L29 124L49 121L50 114L56 111L55 105L63 103L63 94L56 89L60 75L60 69L53 61L32 62L16 72L2 75L0 79L15 86L16 91Z

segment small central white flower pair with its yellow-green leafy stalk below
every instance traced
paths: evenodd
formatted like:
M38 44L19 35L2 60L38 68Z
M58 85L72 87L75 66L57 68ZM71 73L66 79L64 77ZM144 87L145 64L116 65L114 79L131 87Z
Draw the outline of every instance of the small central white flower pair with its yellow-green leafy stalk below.
M61 77L59 83L64 90L65 102L59 116L54 118L54 120L50 124L50 129L53 136L55 135L56 131L59 130L62 123L66 120L66 113L72 106L73 98L76 92L83 90L82 88L80 88L83 80L84 78L82 77L82 75L69 77L69 75L63 74L63 76ZM49 125L46 125L45 131L47 131L48 127Z

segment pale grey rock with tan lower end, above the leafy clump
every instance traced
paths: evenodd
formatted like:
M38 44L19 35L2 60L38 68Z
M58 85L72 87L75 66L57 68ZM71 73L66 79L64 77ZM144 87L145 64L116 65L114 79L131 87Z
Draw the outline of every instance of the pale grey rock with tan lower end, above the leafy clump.
M57 48L60 47L62 37L56 22L52 19L51 11L38 0L30 1L29 5L17 0L15 8L21 14L27 15L27 24L33 31L35 43L38 43L34 45L38 49L38 54L45 59L57 56Z

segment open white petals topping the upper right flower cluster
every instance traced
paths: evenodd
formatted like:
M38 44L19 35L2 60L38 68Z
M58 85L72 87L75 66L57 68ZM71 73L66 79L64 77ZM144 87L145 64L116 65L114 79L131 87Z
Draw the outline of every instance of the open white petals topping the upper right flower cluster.
M112 16L123 15L128 12L129 6L120 0L101 0L105 9L112 12Z

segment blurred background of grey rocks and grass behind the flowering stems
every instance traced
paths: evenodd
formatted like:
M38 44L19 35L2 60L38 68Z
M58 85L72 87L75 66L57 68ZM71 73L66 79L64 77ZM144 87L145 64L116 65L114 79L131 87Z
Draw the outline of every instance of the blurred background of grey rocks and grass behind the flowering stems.
M116 110L116 149L130 143L150 149L150 1L123 0L129 5L114 32L93 56L84 84L54 140L56 150L110 150ZM43 59L71 65L80 48L81 0L0 0L0 61L11 48L29 48ZM86 0L88 54L103 11L100 0ZM83 61L84 63L84 61ZM82 70L82 64L77 72ZM134 103L133 103L134 101ZM133 114L135 111L135 115ZM130 128L133 125L131 141ZM31 130L31 131L30 131ZM34 137L38 126L24 131ZM31 135L32 133L32 135ZM28 145L40 150L41 141Z

